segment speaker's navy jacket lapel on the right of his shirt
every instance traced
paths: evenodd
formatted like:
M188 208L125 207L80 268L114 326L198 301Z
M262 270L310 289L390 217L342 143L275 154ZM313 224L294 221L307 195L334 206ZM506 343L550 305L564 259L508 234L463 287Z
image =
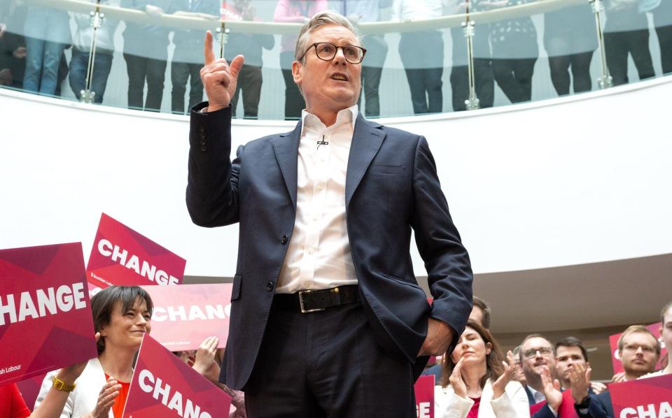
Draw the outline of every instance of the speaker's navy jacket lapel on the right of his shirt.
M360 113L352 133L350 154L348 157L348 173L345 180L345 207L350 204L357 186L364 177L385 138L385 132L378 129L381 125L365 120Z

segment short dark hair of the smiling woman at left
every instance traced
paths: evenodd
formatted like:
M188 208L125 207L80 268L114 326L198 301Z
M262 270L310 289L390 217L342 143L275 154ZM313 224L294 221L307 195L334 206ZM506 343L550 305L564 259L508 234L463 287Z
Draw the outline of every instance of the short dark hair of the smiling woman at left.
M121 301L121 311L126 312L135 306L135 301L141 298L147 305L149 315L152 315L154 303L147 291L139 286L111 286L102 289L91 298L91 312L93 314L93 328L100 332L104 326L110 324L112 312L118 301ZM98 340L98 355L105 351L105 340Z

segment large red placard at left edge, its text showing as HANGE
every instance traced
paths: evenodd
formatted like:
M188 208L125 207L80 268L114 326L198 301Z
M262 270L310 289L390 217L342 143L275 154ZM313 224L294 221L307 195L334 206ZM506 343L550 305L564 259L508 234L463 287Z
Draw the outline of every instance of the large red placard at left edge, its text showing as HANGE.
M0 250L0 384L97 356L81 243Z

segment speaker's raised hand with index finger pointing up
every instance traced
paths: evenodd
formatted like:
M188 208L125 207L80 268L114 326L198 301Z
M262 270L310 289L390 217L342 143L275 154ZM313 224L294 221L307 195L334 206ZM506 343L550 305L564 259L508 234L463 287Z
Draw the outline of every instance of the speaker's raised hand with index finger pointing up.
M229 65L225 59L215 59L212 50L212 32L207 31L203 45L205 65L201 69L201 81L208 96L208 112L229 106L236 92L238 73L245 61L242 55L235 57Z

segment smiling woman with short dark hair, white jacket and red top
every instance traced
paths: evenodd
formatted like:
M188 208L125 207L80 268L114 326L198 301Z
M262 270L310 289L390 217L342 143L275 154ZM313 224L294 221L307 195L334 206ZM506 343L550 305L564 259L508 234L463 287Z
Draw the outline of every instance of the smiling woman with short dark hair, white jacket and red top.
M34 416L121 418L134 357L151 331L152 299L141 287L112 286L91 298L91 310L97 358L48 373Z

